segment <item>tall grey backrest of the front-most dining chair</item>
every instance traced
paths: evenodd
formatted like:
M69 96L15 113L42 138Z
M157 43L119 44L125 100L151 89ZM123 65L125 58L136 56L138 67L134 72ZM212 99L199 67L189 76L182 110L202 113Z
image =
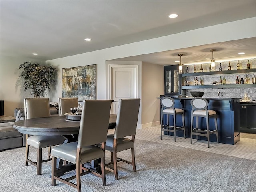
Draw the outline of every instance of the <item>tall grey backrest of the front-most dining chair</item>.
M84 101L78 135L78 148L106 142L110 108L111 100Z

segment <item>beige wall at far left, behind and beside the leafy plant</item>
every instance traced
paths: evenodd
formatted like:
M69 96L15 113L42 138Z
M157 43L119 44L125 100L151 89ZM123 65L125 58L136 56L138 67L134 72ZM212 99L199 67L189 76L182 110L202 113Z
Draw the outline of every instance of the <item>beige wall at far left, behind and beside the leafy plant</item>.
M34 97L29 95L30 90L24 92L23 84L18 80L21 70L20 64L24 62L35 62L42 65L45 61L38 61L31 58L20 58L1 55L0 60L0 99L4 100L4 115L14 116L15 108L23 108L24 97Z

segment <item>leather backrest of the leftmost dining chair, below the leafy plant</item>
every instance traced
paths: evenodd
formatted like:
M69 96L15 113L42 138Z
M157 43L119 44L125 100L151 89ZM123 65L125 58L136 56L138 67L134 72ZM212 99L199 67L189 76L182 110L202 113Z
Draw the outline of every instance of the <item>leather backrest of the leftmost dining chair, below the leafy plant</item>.
M24 98L25 119L50 117L49 98Z

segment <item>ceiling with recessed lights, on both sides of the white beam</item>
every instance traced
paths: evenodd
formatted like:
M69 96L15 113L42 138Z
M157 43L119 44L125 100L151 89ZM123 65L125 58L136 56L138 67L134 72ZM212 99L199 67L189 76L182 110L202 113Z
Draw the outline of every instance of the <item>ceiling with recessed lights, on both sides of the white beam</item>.
M1 55L51 60L256 16L255 0L0 1ZM178 18L170 19L176 13ZM244 29L246 30L246 29ZM92 41L86 42L85 38ZM242 39L118 60L172 64L256 55L256 39ZM33 56L32 53L38 53Z

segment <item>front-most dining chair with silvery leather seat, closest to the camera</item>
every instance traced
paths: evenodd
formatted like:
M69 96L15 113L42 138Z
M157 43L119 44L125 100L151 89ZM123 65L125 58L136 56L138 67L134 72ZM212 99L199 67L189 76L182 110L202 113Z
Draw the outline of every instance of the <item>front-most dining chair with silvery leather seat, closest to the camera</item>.
M92 173L102 178L106 186L105 177L105 143L108 134L111 100L85 100L82 109L80 129L77 142L70 142L52 148L52 186L56 180L64 182L81 191L81 176ZM100 148L95 144L101 144ZM76 164L76 175L69 178L58 176L56 168L57 158ZM92 160L101 160L101 174L82 166ZM70 180L76 178L76 184Z

